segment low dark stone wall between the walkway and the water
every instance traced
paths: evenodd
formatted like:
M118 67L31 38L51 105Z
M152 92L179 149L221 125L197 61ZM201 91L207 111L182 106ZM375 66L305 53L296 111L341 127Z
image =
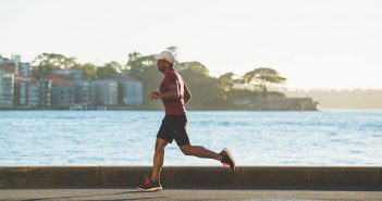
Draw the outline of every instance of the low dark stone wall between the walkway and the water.
M134 188L149 166L0 166L0 189ZM164 166L164 188L286 188L382 190L382 166Z

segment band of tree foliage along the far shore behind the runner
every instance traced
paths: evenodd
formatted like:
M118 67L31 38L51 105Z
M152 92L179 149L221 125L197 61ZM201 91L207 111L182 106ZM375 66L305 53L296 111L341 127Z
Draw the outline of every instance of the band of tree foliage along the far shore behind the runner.
M176 47L169 47L169 51L176 51ZM193 99L189 106L194 109L223 109L233 105L233 100L251 99L258 96L278 96L283 93L268 92L269 85L283 84L286 78L279 75L275 70L260 67L244 74L235 75L232 72L225 73L218 78L209 75L207 66L198 61L176 62L176 71L182 75L189 88ZM52 70L82 70L85 79L115 78L118 74L128 74L144 85L144 105L159 104L150 100L150 92L157 90L163 75L158 71L157 60L153 55L141 55L139 52L131 52L124 65L112 61L102 66L91 63L81 64L75 58L66 58L62 54L42 53L33 62L33 75L36 78L44 78ZM250 88L235 88L235 84L246 86L258 86L260 91L249 90Z

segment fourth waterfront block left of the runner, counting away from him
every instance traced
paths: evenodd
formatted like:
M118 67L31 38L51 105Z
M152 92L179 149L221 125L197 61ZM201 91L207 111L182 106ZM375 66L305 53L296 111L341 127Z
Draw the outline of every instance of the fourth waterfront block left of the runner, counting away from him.
M74 103L74 85L63 78L51 79L51 106L70 106Z

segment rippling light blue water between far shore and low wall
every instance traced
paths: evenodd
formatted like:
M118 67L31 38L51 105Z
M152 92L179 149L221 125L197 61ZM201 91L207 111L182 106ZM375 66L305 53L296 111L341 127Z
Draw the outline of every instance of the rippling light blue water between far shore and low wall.
M161 111L0 111L0 165L151 165ZM382 165L382 111L188 112L192 145L238 165ZM164 165L220 165L185 156Z

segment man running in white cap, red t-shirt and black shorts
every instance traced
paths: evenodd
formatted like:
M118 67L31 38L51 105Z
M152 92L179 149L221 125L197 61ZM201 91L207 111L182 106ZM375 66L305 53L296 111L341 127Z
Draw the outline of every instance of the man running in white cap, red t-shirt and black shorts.
M161 190L160 171L163 165L164 148L175 139L181 151L185 155L195 155L198 158L214 159L230 165L235 169L235 162L227 149L215 153L200 146L192 146L186 131L186 108L185 105L192 98L192 95L180 74L174 70L175 58L172 52L163 51L155 55L157 59L158 70L164 74L159 91L151 92L151 99L162 99L165 116L157 135L157 141L153 154L152 176L149 179L145 175L145 184L138 185L141 191Z

